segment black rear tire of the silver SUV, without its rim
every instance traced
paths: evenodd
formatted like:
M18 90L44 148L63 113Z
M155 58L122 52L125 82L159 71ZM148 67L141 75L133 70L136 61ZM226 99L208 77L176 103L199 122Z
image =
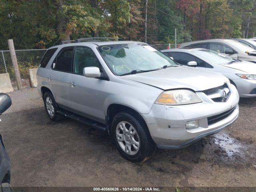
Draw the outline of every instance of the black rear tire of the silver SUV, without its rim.
M52 101L52 107L53 107L53 114L49 114L48 109L46 107L46 99L50 98L50 100ZM48 117L53 120L53 121L60 121L64 118L64 115L57 113L58 110L58 105L56 104L54 97L52 96L52 94L50 92L46 92L44 94L44 108L46 110L46 114L48 115Z

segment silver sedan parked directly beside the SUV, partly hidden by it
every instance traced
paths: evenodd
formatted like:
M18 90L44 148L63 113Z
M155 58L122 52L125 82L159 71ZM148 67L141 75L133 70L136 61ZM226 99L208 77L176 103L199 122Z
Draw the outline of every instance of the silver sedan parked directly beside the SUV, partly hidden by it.
M166 49L162 52L181 65L220 72L236 86L240 97L256 97L256 64L252 62L235 60L201 48Z

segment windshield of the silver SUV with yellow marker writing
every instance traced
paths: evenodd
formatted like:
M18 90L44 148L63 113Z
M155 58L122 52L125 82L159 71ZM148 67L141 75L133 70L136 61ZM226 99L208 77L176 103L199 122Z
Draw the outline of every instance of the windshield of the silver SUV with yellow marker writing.
M162 52L143 43L104 45L98 46L98 50L116 75L179 66Z

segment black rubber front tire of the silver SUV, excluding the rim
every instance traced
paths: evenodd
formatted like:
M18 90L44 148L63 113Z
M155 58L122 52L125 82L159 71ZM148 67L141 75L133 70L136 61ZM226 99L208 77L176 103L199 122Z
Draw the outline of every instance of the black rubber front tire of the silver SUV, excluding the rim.
M125 121L131 124L139 136L140 147L138 152L134 155L130 155L126 153L121 148L120 144L118 144L118 140L116 137L116 128L118 124L122 121ZM120 154L131 162L137 162L137 163L144 162L148 160L156 150L156 144L152 140L147 126L142 121L141 117L139 117L138 115L136 116L135 114L126 113L126 112L120 112L116 114L111 124L111 134Z

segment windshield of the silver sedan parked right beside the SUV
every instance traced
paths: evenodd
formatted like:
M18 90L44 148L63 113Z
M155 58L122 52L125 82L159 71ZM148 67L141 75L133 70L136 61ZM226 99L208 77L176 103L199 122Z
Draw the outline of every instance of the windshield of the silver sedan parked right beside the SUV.
M230 57L226 57L224 55L221 55L215 51L212 50L207 50L207 49L202 49L202 50L194 50L192 51L194 54L198 55L200 58L203 60L208 60L214 64L227 64L230 62L235 62L237 60L234 60Z

